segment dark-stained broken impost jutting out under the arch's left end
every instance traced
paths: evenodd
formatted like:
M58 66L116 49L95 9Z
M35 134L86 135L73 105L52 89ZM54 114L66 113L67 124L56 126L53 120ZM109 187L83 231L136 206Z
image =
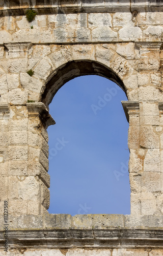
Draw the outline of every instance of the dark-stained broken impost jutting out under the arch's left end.
M29 116L39 116L42 123L47 128L49 125L55 124L55 120L51 117L46 106L42 102L27 102L27 109Z

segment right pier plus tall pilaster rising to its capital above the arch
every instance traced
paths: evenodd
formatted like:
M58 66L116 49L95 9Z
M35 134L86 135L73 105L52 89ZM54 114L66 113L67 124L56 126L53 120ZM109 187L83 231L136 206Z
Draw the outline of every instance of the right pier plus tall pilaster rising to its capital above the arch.
M160 42L139 42L139 102L123 102L129 120L131 215L163 214Z

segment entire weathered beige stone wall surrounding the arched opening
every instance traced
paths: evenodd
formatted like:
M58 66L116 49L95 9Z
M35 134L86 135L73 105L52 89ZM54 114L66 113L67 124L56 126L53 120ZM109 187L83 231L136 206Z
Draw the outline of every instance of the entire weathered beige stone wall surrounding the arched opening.
M161 0L0 0L0 255L163 255L162 72ZM48 105L89 74L128 98L131 215L47 211Z

